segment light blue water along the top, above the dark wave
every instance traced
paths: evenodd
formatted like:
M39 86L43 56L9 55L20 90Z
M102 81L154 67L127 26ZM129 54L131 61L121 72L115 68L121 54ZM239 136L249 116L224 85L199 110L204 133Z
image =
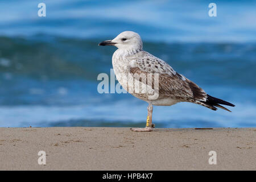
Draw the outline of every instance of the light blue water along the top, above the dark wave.
M144 40L189 42L255 41L254 1L217 1L217 16L208 16L201 1L44 1L39 18L34 0L0 2L1 35L39 32L79 38L114 37L132 30ZM184 6L187 5L187 6ZM230 8L232 6L232 8ZM49 9L48 9L49 7ZM239 13L234 13L239 12ZM229 16L232 15L232 16Z

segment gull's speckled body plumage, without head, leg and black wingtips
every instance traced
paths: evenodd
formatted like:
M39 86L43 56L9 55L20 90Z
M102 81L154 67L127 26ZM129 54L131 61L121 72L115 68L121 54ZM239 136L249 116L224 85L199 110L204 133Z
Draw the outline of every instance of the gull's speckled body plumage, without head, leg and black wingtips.
M207 99L207 94L203 89L183 75L175 72L165 61L146 51L141 50L130 54L123 53L122 50L118 49L113 55L112 63L117 80L121 85L126 85L127 80L118 77L118 73L131 73L133 75L136 73L138 75L142 73L145 75L148 73L159 74L159 97L152 101L153 105L172 105L185 101L204 105L200 101L206 101ZM127 89L126 86L123 87ZM131 94L141 100L148 101L147 93Z

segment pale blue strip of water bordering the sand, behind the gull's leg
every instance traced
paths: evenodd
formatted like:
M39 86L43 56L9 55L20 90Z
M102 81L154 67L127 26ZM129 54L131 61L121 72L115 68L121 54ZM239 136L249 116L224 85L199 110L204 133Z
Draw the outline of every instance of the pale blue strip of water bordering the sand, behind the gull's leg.
M235 104L233 113L188 103L155 106L153 120L157 127L255 127L255 105ZM142 127L146 107L146 103L130 100L77 106L0 106L0 123L1 127Z

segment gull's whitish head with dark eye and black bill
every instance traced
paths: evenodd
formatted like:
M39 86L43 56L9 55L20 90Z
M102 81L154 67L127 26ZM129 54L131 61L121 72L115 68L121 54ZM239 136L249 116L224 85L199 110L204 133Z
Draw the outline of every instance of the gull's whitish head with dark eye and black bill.
M98 44L98 46L115 46L118 49L141 51L142 40L139 34L132 31L125 31L119 34L113 40L105 40Z

